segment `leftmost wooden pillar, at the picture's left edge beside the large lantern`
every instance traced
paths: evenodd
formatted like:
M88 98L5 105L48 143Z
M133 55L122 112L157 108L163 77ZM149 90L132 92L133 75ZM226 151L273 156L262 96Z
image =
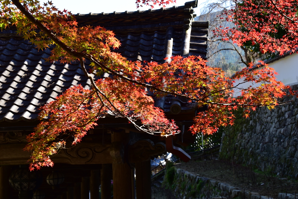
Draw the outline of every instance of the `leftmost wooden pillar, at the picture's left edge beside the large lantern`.
M10 198L9 176L11 173L10 166L0 166L0 199Z

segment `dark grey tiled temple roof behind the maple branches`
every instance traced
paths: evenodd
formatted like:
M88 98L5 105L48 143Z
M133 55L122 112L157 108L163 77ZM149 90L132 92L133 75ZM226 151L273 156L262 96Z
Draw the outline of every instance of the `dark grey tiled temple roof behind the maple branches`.
M113 30L122 43L117 52L131 61L163 62L170 55L188 53L205 57L208 22L191 21L193 9L190 6L195 6L194 3L128 13L78 14L77 21ZM169 47L172 50L167 51ZM46 62L44 58L50 51L38 51L28 41L13 36L13 30L0 33L0 121L34 121L38 108L67 88L90 85L78 63ZM171 97L165 98L159 107L177 114L176 104L180 104L178 112L195 109L195 104Z

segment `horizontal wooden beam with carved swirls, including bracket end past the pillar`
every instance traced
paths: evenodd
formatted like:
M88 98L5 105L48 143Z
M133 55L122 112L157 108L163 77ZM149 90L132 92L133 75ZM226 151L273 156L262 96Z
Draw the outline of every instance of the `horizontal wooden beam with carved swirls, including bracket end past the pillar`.
M127 136L128 133L123 132ZM122 134L123 134L122 133ZM114 133L121 134L121 133ZM127 142L127 141L126 141ZM0 163L1 165L19 165L28 164L30 153L23 151L26 144L0 144ZM90 142L81 142L74 147L62 149L59 154L53 156L54 163L67 164L108 164L123 162L125 143L114 141L113 144L99 144ZM141 162L150 160L152 156L158 156L166 152L165 144L158 142L156 144L151 140L139 140L131 143L129 147L129 162ZM128 160L126 160L128 161Z

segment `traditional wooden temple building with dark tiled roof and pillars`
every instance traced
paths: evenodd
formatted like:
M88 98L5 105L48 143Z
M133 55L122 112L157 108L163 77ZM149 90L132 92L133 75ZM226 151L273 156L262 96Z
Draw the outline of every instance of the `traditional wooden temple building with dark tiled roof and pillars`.
M207 53L208 21L193 21L197 1L184 6L123 13L75 15L80 26L102 26L121 42L115 50L131 61L157 61L174 55ZM46 62L51 49L36 49L15 30L0 32L0 198L17 199L141 199L151 198L150 160L194 142L189 131L196 103L166 96L155 106L176 121L181 133L160 137L139 132L124 118L97 121L76 146L70 143L52 157L55 165L29 172L26 136L39 123L39 108L72 85L90 87L80 64ZM106 74L103 74L106 75ZM154 96L153 96L154 98ZM112 185L112 186L111 186Z

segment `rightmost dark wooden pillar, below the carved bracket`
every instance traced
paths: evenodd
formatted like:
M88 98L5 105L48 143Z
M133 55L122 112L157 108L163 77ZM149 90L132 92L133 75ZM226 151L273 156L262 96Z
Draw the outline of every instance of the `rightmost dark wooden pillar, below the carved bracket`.
M136 198L151 199L151 161L136 163Z

